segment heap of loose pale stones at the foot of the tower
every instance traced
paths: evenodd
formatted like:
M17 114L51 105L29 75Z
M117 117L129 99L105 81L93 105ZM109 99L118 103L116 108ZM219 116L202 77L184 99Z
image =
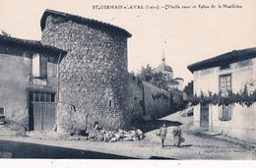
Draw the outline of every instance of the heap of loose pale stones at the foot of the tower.
M137 141L143 140L144 134L140 129L126 132L119 129L118 132L105 131L102 130L93 130L89 133L88 140L97 140L97 141Z

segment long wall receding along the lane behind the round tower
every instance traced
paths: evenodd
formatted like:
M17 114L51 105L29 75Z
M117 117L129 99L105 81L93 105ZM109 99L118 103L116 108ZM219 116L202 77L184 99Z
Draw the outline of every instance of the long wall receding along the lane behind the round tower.
M172 112L170 93L152 84L141 82L135 77L129 78L129 109L132 123L144 116L160 118Z

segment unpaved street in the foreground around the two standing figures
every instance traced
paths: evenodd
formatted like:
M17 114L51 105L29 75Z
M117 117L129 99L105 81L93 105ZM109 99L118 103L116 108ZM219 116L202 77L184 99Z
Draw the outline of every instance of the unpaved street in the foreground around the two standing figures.
M90 158L90 159L256 159L254 148L222 135L207 136L190 127L191 118L175 113L144 123L146 138L140 141L99 142L89 140L51 140L50 135L32 138L0 137L0 156L12 158ZM167 127L165 147L156 130ZM173 146L172 129L181 125L186 139Z

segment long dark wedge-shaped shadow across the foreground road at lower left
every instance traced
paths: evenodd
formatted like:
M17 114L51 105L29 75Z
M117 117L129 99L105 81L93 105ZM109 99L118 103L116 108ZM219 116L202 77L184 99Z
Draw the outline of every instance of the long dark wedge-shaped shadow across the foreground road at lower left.
M11 153L11 158L86 158L86 159L136 159L89 150L56 147L28 142L0 140L0 152Z

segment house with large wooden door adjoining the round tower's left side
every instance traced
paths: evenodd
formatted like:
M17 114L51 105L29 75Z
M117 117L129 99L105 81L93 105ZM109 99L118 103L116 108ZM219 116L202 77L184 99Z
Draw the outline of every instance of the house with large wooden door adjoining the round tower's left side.
M65 51L0 35L0 112L27 130L55 124L58 64Z

